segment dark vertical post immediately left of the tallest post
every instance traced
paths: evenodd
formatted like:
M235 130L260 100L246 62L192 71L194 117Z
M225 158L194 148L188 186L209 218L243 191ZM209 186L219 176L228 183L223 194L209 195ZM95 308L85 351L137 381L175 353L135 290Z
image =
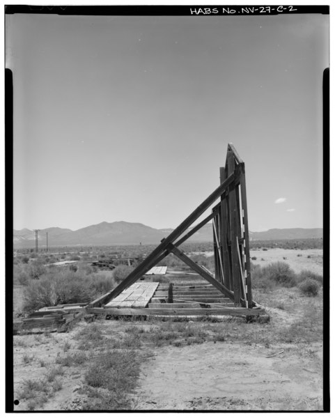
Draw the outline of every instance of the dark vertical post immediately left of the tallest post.
M220 167L220 184L224 183L226 177L226 169L224 167ZM228 251L228 201L226 196L226 192L221 194L221 225L219 240L222 246L222 263L224 264L224 286L226 286L230 291L233 291L231 263L229 261Z

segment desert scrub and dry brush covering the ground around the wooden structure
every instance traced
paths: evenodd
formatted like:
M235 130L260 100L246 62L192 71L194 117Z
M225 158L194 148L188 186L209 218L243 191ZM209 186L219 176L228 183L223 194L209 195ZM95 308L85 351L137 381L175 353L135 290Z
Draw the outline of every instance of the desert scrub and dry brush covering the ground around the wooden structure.
M206 251L206 245L192 251ZM138 246L120 248L119 253L115 248L39 255L19 251L13 266L14 297L20 298L15 314L43 306L90 302L107 293L134 265L102 271L91 261L113 258L117 253L139 256ZM265 248L264 243L258 248ZM146 251L150 249L142 248L141 256ZM213 257L194 254L192 259L214 270ZM77 261L77 269L49 265L58 261ZM181 265L172 254L159 264ZM20 370L15 397L20 399L21 410L136 410L141 364L163 347L182 349L210 342L276 351L285 346L290 353L316 359L313 345L322 343L322 275L309 270L297 273L283 261L259 265L256 259L251 264L251 278L254 300L271 316L268 324L247 324L239 318L221 323L208 317L194 322L95 320L78 323L67 334L14 336L15 368Z

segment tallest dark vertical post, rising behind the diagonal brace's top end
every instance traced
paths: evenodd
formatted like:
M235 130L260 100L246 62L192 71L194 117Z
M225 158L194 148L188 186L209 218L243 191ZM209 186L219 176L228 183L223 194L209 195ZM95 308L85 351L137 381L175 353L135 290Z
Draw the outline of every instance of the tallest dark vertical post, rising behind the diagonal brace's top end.
M235 169L235 157L232 151L227 153L228 162L228 176L233 173ZM231 224L231 270L233 274L233 288L234 288L234 302L235 306L240 306L241 285L240 285L240 265L238 262L237 251L237 201L236 201L236 186L229 187L229 218Z

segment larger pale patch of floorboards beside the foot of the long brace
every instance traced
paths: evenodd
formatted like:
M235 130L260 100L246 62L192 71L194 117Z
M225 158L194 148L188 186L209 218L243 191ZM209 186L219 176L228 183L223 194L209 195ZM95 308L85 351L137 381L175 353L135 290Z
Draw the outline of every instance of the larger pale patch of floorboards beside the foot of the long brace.
M141 281L134 283L125 291L116 296L114 300L107 303L104 308L145 308L148 306L150 299L153 297L157 286L157 282Z

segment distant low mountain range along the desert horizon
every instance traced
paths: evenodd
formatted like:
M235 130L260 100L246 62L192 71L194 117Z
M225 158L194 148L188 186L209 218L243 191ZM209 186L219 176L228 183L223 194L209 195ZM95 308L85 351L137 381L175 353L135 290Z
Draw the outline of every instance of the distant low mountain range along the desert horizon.
M131 222L101 222L72 231L63 228L47 228L38 231L38 245L45 247L64 247L75 245L138 245L159 244L173 229L155 229ZM304 229L269 229L262 232L249 232L251 240L293 240L306 238L322 238L322 228ZM212 241L212 224L206 224L194 233L189 242ZM14 230L13 243L15 248L35 247L35 232L29 229Z

